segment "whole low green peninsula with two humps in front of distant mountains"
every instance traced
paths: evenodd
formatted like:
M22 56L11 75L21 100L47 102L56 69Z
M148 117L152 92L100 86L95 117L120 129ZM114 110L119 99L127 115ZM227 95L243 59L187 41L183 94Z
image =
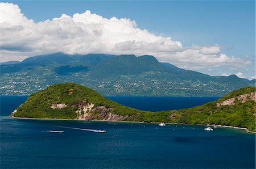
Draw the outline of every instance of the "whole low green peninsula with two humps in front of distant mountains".
M170 122L227 125L255 132L255 87L245 87L204 105L148 112L126 107L76 83L53 84L28 97L11 114L33 119Z

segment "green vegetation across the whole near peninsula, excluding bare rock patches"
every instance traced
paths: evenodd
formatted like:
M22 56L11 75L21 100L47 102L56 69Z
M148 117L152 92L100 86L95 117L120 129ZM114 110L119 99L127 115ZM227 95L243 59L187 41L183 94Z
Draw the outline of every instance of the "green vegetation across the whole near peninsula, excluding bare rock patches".
M47 90L32 94L26 102L18 107L14 116L41 119L76 119L75 111L78 109L78 105L86 99L86 103L93 103L95 104L94 107L104 105L106 108L113 108L112 113L129 115L125 119L126 121L206 124L207 117L209 117L210 124L239 126L255 131L255 115L253 115L255 113L255 102L253 100L243 104L237 100L235 105L216 107L218 102L250 92L255 92L255 87L241 88L215 102L193 108L177 111L146 112L113 102L80 84L61 83L53 84ZM57 103L65 103L68 106L63 109L52 109L51 105Z

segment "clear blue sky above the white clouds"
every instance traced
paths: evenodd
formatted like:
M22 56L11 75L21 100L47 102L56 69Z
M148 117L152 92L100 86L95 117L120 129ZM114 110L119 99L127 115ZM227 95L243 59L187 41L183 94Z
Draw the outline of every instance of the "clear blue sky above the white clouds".
M172 37L184 48L218 44L221 53L254 62L255 1L4 2L18 5L22 13L35 22L59 18L61 14L72 16L86 10L108 19L113 16L130 18L135 20L137 27L156 36ZM232 74L232 71L225 73ZM254 75L254 64L247 73L243 71L245 74L247 78Z

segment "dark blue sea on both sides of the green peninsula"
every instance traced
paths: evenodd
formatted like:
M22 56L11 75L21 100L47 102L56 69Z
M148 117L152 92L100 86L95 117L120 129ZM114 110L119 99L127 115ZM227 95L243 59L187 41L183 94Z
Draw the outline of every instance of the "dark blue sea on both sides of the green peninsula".
M208 132L200 125L10 118L27 97L0 96L0 168L255 168L253 133L221 127ZM147 111L218 99L108 98Z

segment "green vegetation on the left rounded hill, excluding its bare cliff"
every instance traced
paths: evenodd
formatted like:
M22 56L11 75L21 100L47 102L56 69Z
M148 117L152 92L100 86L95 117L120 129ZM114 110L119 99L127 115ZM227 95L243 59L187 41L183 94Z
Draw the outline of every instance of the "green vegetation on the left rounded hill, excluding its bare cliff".
M79 104L93 103L94 107L104 105L113 108L112 113L118 115L139 116L144 111L125 107L101 96L96 91L76 83L53 84L46 90L30 95L26 102L20 105L15 117L42 118L42 119L76 119L76 110ZM52 104L66 104L62 109L52 109Z

